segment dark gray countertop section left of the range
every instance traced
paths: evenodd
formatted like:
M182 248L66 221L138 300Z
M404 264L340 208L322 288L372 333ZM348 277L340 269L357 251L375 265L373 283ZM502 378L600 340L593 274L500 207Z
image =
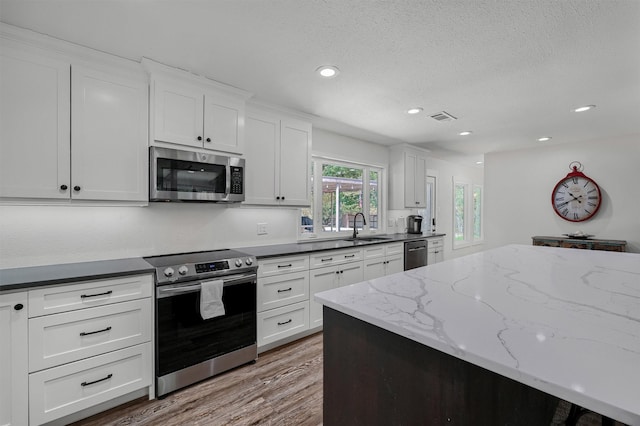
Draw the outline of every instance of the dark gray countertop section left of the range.
M0 292L153 271L153 267L139 257L0 269Z

